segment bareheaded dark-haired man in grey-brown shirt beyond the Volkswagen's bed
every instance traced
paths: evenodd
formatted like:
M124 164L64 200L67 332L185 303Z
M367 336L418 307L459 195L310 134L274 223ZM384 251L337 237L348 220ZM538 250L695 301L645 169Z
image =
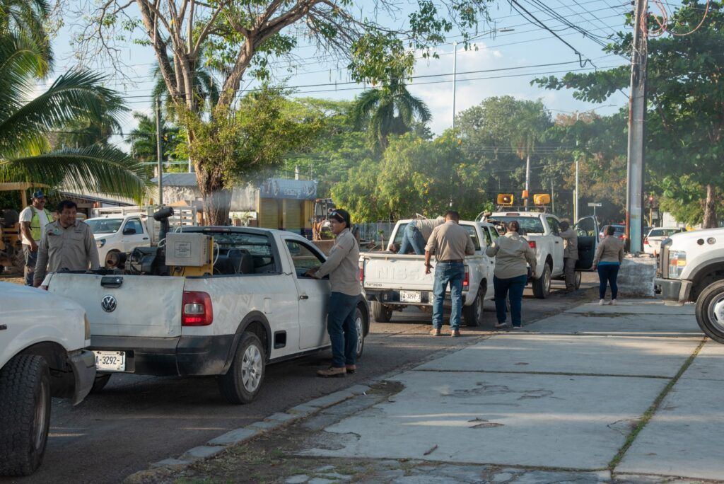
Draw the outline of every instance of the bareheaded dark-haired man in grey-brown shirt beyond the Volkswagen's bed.
M93 230L90 225L75 218L77 209L75 201L61 201L58 205L58 220L50 222L43 229L33 275L36 288L45 279L47 271L84 271L88 267L92 270L100 267Z

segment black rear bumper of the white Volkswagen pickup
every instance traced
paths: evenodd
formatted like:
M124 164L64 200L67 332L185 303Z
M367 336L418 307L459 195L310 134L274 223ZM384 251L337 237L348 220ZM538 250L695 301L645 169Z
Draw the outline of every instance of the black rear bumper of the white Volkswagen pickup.
M222 375L234 335L142 338L92 336L90 349L125 351L126 373L137 375Z

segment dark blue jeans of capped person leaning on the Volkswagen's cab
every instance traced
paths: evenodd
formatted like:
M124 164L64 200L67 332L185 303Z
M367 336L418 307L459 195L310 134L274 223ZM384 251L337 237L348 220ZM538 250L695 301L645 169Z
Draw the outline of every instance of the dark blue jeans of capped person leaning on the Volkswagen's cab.
M342 368L357 361L357 325L355 310L360 296L343 293L329 295L327 333L332 343L332 367Z

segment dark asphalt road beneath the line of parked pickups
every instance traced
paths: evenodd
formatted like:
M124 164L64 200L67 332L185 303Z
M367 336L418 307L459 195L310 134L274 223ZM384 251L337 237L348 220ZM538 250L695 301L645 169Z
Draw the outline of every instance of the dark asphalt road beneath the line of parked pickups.
M584 275L591 288L593 275ZM561 288L561 283L555 283ZM557 314L590 297L591 291L550 299L533 299L526 290L526 321ZM75 409L54 400L51 433L42 467L23 479L5 483L117 483L152 462L179 456L210 438L243 427L274 412L301 404L400 367L417 364L439 351L460 348L489 334L494 322L492 304L486 325L463 328L464 338L432 338L428 314L409 310L392 322L374 323L366 341L361 370L346 378L325 380L314 373L329 364L325 352L269 367L258 400L245 406L227 404L213 378L114 375L102 393L91 395Z

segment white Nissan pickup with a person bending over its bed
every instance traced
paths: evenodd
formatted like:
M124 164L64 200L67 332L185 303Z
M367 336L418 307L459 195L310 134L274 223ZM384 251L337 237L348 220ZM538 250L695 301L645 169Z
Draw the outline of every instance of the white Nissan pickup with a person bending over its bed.
M400 220L390 234L391 243L399 246L405 227L412 220ZM483 322L483 301L492 299L492 280L495 258L485 255L485 248L498 237L497 230L487 222L460 220L473 238L475 255L465 258L463 281L463 318L468 326ZM425 256L364 252L360 255L360 279L372 315L377 322L390 321L392 312L406 306L432 307L434 267L425 274ZM434 262L433 262L434 266ZM448 290L449 292L449 290ZM445 306L450 307L447 297Z

